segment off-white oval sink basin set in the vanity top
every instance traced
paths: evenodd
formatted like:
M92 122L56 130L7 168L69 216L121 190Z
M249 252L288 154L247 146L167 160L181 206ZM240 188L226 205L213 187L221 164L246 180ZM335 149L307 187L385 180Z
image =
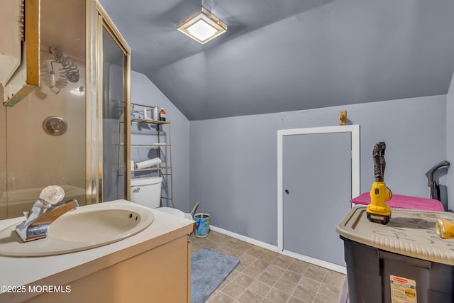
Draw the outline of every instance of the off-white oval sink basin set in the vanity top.
M135 205L80 206L50 224L46 238L25 243L14 231L22 219L0 231L0 255L38 257L104 246L143 231L154 219L151 211Z

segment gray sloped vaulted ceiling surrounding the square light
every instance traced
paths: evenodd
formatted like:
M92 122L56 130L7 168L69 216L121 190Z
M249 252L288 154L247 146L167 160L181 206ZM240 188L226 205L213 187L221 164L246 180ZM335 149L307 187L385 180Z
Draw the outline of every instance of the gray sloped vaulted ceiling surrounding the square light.
M453 0L100 0L146 75L189 120L446 94ZM204 6L228 31L177 31Z

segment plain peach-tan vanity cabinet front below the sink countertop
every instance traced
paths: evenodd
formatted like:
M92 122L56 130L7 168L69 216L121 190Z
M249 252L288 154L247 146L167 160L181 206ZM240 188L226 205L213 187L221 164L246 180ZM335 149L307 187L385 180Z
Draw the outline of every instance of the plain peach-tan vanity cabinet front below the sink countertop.
M190 252L184 235L68 283L70 293L44 293L27 302L190 302ZM109 264L107 258L103 265ZM74 278L80 274L77 268L67 273Z

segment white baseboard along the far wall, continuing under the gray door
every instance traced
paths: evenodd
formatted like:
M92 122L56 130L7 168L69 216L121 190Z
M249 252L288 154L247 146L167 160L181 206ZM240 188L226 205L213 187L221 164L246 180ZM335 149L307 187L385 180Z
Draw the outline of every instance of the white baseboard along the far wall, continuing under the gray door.
M318 265L318 266L321 266L322 268L327 268L328 270L334 270L336 272L341 272L341 273L343 273L345 275L347 274L347 269L345 268L345 266L341 266L341 265L337 265L337 264L334 264L334 263L331 263L331 262L326 262L326 261L323 261L323 260L312 258L312 257L309 257L307 255L301 255L299 253L294 253L294 252L289 251L289 250L279 251L279 248L277 248L277 246L274 246L274 245L271 245L271 244L268 244L268 243L265 243L265 242L262 242L262 241L255 240L253 238L249 238L249 237L240 235L239 233L233 233L233 231L227 231L226 229L219 228L219 227L216 227L216 226L210 225L210 229L213 230L213 231L216 231L218 233L223 233L226 236L230 236L232 238L237 238L238 240L245 241L247 243L253 244L255 246L260 246L261 248L265 248L267 250L274 251L275 253L281 253L282 255L287 255L289 257L292 257L292 258L295 258L295 259L298 259L298 260L301 260L301 261L304 261L304 262L307 262L307 263Z

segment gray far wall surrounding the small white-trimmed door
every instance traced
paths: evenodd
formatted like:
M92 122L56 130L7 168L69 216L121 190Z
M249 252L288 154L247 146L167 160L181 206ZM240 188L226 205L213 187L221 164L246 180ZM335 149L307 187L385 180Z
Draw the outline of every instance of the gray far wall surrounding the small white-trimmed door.
M361 126L361 192L374 181L372 148L385 141L389 188L427 197L424 174L446 158L445 95L191 121L190 201L212 225L277 245L277 130L334 126L343 109Z

